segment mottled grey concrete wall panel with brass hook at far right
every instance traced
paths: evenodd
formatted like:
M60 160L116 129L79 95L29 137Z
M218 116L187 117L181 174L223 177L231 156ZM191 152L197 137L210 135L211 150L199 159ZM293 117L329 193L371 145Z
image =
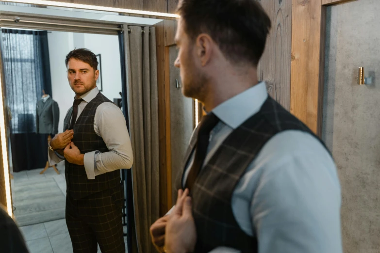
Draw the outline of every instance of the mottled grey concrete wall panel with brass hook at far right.
M345 253L380 252L379 0L328 8L323 139L342 187ZM357 84L358 67L372 85Z

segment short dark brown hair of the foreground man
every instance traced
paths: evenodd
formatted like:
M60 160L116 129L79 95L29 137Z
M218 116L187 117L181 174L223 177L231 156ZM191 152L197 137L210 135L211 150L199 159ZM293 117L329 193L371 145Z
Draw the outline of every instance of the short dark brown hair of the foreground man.
M231 62L259 63L271 21L256 0L180 0L177 13L191 39L208 33Z

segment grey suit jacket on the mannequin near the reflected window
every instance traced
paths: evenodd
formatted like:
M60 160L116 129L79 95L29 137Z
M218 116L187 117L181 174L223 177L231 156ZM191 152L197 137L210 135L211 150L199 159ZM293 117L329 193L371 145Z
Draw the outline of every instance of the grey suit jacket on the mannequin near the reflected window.
M59 107L51 97L44 101L37 101L36 105L36 132L42 134L57 134L59 123Z

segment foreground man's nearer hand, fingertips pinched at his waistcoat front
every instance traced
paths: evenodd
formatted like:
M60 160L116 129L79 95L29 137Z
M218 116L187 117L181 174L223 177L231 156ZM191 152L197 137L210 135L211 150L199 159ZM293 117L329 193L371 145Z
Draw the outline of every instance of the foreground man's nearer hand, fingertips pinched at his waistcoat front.
M197 231L191 211L189 190L178 191L177 204L169 215L165 231L165 248L168 253L194 252Z

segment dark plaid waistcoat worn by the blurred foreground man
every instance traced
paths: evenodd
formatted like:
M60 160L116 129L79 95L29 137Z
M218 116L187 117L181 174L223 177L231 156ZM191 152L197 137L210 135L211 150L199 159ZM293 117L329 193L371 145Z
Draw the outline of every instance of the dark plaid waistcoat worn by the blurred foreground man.
M241 230L234 218L232 193L264 144L277 133L292 129L317 138L307 126L268 97L261 110L232 131L200 170L191 192L198 238L196 253L207 253L219 246L231 247L241 253L258 252L257 238ZM184 166L196 145L197 134L196 130ZM183 172L181 175L177 180L178 188L182 188Z

